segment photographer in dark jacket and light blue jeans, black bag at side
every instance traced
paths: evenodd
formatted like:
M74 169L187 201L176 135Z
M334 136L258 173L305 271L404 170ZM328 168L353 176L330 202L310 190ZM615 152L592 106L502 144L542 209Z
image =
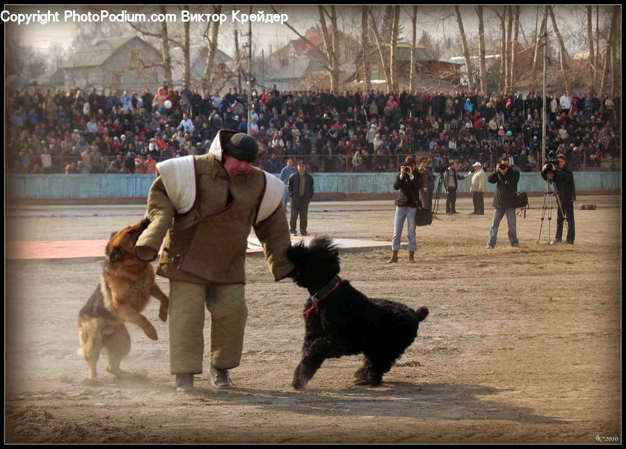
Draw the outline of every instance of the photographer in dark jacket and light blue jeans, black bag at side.
M489 175L488 181L497 185L493 197L493 221L486 249L492 249L495 246L498 227L504 215L506 215L508 223L508 241L511 242L511 246L518 246L520 242L517 241L515 196L517 194L517 182L520 181L520 172L509 166L508 157L501 157L495 171Z

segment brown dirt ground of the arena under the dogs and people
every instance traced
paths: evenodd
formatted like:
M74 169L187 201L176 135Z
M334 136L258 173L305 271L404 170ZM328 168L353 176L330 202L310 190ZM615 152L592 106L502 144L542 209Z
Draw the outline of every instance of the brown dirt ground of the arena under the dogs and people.
M598 208L575 211L574 246L547 246L547 223L537 243L542 199L517 219L518 248L505 219L496 248L485 250L490 200L474 216L461 198L460 214L418 228L415 265L406 251L394 265L384 263L389 250L342 252L341 275L362 292L430 309L378 387L353 385L358 356L326 361L304 391L289 386L307 293L273 283L262 257L246 263L249 317L234 388L217 391L204 374L194 393L173 392L157 300L145 315L159 340L129 325L122 362L147 379L115 379L101 356L102 380L85 384L77 315L102 260L8 260L5 442L621 443L620 196L579 198ZM7 239L107 238L143 214L25 211L8 214ZM314 203L309 231L390 242L393 221L392 202ZM165 279L159 285L168 291ZM205 336L208 349L208 326Z

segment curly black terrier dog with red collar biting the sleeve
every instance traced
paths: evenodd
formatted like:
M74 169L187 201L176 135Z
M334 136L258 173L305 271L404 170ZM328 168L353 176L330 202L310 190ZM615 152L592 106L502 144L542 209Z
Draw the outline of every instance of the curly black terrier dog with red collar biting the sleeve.
M317 237L287 250L296 265L289 277L309 290L305 305L305 341L291 385L305 386L324 360L363 353L356 385L378 385L385 372L415 340L428 308L412 310L385 299L369 299L339 274L339 252L332 241Z

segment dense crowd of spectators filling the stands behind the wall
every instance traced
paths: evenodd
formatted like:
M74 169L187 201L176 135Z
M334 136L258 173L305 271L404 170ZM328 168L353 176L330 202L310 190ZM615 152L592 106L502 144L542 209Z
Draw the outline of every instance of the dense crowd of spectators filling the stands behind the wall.
M502 156L539 169L543 98L463 91L381 93L252 90L250 129L266 146L259 164L279 173L288 157L310 171L396 171L405 155L434 169L456 160L486 170ZM580 170L620 157L620 98L549 95L547 150ZM158 161L208 151L219 129L247 132L248 93L161 86L122 95L47 89L6 94L6 171L155 173Z

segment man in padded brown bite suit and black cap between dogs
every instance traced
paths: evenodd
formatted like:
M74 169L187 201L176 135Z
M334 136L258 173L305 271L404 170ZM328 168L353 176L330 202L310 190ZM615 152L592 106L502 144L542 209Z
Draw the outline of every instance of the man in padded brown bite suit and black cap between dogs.
M193 390L202 373L204 307L211 313L209 376L230 386L228 370L241 361L248 316L244 294L248 236L254 228L275 281L294 269L282 208L284 184L253 167L259 146L248 134L218 132L207 155L157 164L139 237L139 259L157 258L157 274L170 282L170 370L179 392Z

